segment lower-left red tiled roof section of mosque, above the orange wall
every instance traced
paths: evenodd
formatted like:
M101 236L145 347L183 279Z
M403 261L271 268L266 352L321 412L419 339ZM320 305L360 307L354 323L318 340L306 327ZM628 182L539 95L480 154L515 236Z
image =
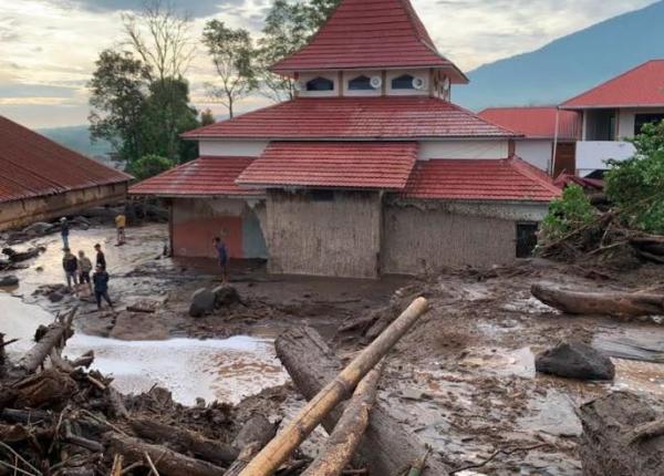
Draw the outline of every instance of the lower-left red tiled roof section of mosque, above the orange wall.
M251 157L200 157L129 187L129 194L164 197L261 195L235 183L251 161Z

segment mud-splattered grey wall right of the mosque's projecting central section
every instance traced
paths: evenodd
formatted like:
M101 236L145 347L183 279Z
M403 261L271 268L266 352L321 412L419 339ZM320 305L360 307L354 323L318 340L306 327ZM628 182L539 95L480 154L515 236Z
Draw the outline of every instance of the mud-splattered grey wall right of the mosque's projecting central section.
M382 272L414 275L445 266L508 263L516 259L517 223L537 221L543 213L546 206L386 205Z

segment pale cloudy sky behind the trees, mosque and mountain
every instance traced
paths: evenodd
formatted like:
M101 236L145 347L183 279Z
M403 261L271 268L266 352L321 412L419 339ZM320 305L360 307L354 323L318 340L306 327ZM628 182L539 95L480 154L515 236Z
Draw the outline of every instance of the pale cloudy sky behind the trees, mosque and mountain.
M193 38L210 18L253 32L272 0L170 0L193 17ZM654 0L412 0L440 53L461 70L537 50L551 40ZM142 0L0 0L0 115L29 127L87 122L86 83L98 53L122 44L122 12ZM204 84L214 71L201 45L187 79L191 101L222 115ZM248 97L238 111L269 104Z

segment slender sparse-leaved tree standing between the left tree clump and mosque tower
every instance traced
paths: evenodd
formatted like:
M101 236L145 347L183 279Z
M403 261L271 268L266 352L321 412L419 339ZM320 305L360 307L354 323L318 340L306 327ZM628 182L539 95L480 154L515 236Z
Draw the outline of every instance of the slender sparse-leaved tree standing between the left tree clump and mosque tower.
M234 116L236 101L245 97L258 86L251 68L253 45L249 32L234 30L219 20L210 20L203 31L203 43L207 46L220 84L208 85L210 94L218 99Z

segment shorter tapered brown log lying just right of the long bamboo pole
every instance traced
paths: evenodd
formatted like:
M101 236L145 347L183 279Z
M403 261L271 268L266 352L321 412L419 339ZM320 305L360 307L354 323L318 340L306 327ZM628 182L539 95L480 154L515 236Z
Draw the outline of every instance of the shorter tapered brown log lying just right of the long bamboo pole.
M339 476L351 462L369 425L369 415L376 400L382 366L378 364L357 384L343 415L328 438L322 453L302 476Z

